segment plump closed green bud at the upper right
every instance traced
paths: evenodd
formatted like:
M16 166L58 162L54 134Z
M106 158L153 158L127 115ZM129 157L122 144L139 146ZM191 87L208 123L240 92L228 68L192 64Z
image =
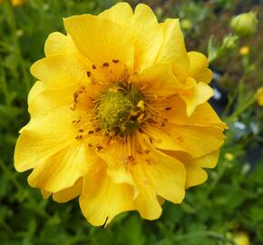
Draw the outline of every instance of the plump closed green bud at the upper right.
M256 12L248 12L235 16L230 27L239 35L252 35L257 32L258 18Z

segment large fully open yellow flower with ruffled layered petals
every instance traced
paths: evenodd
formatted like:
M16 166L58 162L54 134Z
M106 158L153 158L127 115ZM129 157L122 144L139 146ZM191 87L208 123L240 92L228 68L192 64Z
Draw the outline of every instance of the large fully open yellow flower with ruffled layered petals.
M93 225L122 211L148 220L164 200L207 180L226 124L207 102L207 58L187 53L178 19L159 24L151 8L127 3L101 15L64 19L31 72L30 122L15 147L15 169L45 198L80 196Z

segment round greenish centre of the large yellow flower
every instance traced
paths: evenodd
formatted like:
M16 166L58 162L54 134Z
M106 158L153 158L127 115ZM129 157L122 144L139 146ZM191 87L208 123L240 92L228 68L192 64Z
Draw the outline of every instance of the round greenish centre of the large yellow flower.
M134 87L115 86L102 95L96 118L102 129L123 136L133 132L142 123L141 92Z

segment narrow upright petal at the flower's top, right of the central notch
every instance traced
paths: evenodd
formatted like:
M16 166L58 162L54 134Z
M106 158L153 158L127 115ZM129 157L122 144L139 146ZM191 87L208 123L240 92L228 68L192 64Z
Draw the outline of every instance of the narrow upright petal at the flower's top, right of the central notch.
M137 5L132 18L134 68L140 72L155 63L163 43L163 30L148 5Z

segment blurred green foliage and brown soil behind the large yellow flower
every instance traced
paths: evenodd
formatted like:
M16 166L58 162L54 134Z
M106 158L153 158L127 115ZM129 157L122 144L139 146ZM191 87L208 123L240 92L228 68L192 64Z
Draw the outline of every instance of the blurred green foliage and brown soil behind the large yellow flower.
M120 1L119 1L120 2ZM104 228L88 224L78 201L44 201L29 187L29 172L14 168L19 129L29 120L27 94L34 84L29 68L44 57L48 34L63 30L63 17L99 14L113 0L27 0L0 4L0 244L15 245L262 245L263 244L263 114L253 99L263 85L262 1L152 0L162 21L180 17L188 50L211 54L215 72L211 101L229 124L219 164L209 181L190 188L181 205L166 202L160 220L141 220L136 212L119 215ZM234 15L258 13L258 31L230 42ZM231 37L231 36L230 36ZM224 41L225 40L225 41ZM225 42L225 43L224 43ZM226 44L227 43L227 44ZM248 47L248 54L240 52Z

